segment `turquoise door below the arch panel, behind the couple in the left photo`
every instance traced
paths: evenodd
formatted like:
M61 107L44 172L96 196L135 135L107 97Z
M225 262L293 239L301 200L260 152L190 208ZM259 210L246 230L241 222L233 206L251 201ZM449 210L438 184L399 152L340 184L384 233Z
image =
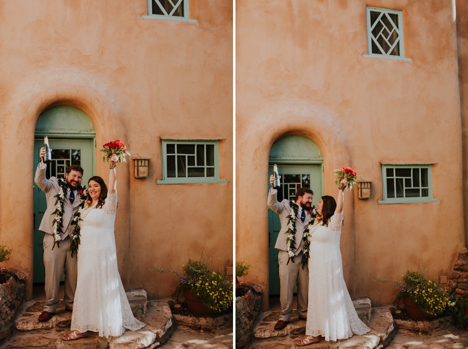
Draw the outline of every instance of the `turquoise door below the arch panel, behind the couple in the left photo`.
M83 170L82 185L92 177L93 141L91 139L49 139L52 149L52 162L47 165L46 177L55 176L65 178L65 170L69 165L80 165ZM39 164L39 150L44 145L44 138L34 140L34 163ZM36 174L34 169L34 174ZM34 178L33 178L34 182ZM39 232L40 221L47 208L44 192L34 185L34 269L33 283L43 283L45 280L45 268L43 262L44 248L42 245L44 233ZM63 280L63 275L62 275Z

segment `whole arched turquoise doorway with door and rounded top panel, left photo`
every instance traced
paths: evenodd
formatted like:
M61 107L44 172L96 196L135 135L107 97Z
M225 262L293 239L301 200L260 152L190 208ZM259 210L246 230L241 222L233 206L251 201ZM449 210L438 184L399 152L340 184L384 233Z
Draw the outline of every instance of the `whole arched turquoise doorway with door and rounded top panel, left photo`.
M43 285L45 280L44 233L39 232L39 225L47 203L45 194L34 183L34 174L40 162L39 150L44 145L44 136L49 138L49 145L52 149L52 162L47 166L47 178L51 176L64 178L65 170L71 164L78 164L83 168L82 184L87 183L88 178L96 172L96 132L89 117L76 108L66 106L51 107L43 111L36 123L34 137L33 284L35 286Z

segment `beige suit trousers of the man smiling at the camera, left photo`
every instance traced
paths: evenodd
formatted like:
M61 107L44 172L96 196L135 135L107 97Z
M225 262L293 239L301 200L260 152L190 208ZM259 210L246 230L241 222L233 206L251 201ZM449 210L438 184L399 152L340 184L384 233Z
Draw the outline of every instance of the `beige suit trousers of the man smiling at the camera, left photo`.
M77 253L72 258L70 251L71 239L67 235L60 241L60 247L54 246L54 236L44 234L44 266L45 266L45 302L44 311L55 312L59 305L59 286L62 271L65 273L65 308L73 309L75 291L77 289Z

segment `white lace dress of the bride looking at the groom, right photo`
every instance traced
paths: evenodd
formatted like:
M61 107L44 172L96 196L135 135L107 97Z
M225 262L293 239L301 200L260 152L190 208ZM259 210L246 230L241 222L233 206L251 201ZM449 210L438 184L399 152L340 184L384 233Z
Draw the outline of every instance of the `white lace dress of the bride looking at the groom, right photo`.
M310 228L309 304L306 334L336 341L370 331L357 316L343 278L340 251L343 213L334 213L328 227Z

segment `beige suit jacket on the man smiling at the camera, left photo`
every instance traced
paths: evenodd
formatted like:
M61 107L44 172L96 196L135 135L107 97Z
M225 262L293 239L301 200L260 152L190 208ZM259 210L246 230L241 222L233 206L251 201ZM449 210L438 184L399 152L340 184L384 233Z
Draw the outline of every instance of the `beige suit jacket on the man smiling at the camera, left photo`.
M47 179L45 177L45 171L47 169L40 169L38 166L38 169L36 170L36 175L34 177L34 182L38 185L38 187L45 193L45 197L47 199L47 209L44 213L44 216L42 217L42 220L40 221L39 225L39 231L47 234L53 234L54 233L54 227L52 225L52 222L55 219L55 214L52 215L52 213L55 211L57 206L55 205L55 202L57 201L57 198L54 197L55 195L59 194L60 192L60 185L59 185L59 180L56 177L50 177L50 179ZM82 200L79 197L79 194L76 195L75 200L73 201L73 204L68 201L68 196L66 196L63 199L63 216L62 216L62 226L61 226L61 232L60 236L62 240L67 236L71 236L71 232L73 229L73 226L70 225L73 215L75 212L78 210L78 205L80 204Z

